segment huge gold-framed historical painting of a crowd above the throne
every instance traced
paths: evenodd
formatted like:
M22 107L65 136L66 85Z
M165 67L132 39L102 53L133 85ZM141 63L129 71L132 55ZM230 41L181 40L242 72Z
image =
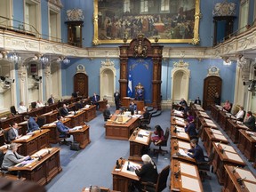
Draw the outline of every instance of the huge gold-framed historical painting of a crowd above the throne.
M94 0L93 44L143 33L159 43L199 43L200 0Z

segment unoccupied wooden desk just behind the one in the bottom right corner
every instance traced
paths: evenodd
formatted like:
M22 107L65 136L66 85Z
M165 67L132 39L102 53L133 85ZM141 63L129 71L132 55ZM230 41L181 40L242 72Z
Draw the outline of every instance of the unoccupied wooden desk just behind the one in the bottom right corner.
M216 172L218 180L222 185L224 183L225 168L224 164L244 167L243 159L236 153L231 146L222 143L213 142L214 155L212 160L213 172ZM221 153L224 149L223 153Z

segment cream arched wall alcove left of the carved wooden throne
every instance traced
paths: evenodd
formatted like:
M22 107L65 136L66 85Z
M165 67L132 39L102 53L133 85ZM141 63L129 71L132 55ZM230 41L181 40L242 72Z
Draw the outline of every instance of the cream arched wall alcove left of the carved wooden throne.
M114 102L114 92L116 91L116 68L111 60L101 61L100 68L100 100L106 98L109 102Z

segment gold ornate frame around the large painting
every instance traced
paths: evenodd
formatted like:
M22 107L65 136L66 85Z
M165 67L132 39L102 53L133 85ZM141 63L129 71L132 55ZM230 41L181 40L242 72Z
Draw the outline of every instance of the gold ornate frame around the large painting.
M99 15L99 4L98 0L93 0L94 2L94 12L93 12L93 26L94 26L94 32L93 32L93 45L99 45L99 44L124 44L123 39L109 39L109 40L101 40L99 39L99 25L98 25L98 15ZM191 0L190 0L191 1ZM164 43L164 44L199 44L199 20L201 18L200 13L200 0L194 0L195 1L195 24L194 24L194 36L191 39L161 39L159 38L158 43ZM151 43L155 42L155 39L149 39ZM127 43L130 43L131 39L127 40Z

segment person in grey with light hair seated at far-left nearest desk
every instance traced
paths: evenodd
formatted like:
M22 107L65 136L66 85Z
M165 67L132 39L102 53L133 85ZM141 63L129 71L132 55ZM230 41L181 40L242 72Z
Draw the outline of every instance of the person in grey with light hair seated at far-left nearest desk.
M15 164L19 164L22 161L25 161L29 158L29 156L20 156L17 153L18 145L16 143L11 143L9 146L2 164L2 169L8 170L9 167L14 166Z

